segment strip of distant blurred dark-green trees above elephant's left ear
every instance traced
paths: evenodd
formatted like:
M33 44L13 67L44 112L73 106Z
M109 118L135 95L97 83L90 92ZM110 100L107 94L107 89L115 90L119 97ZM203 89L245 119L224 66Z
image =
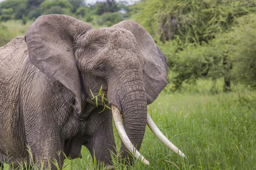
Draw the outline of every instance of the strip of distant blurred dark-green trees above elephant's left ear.
M0 21L24 18L35 20L45 14L66 14L86 22L105 13L116 13L113 17L118 18L130 16L119 12L121 9L126 12L131 11L125 1L117 3L115 0L108 0L108 3L96 2L89 6L84 4L84 0L6 0L0 3ZM119 22L110 17L102 17L102 19L105 19L103 23L111 22L112 25Z

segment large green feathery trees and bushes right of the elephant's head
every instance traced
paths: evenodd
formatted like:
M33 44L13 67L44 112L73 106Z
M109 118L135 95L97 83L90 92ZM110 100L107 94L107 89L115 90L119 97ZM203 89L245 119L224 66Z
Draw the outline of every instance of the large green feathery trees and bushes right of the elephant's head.
M167 57L173 91L220 77L224 91L238 82L255 88L255 0L145 0L136 8Z

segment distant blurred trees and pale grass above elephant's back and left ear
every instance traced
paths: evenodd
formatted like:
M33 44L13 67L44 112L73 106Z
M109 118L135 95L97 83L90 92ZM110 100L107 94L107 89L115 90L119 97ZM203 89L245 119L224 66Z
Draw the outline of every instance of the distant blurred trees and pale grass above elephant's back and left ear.
M121 9L125 14L120 12ZM0 3L0 35L4 34L0 38L0 46L14 37L24 35L32 22L41 15L65 14L90 23L93 28L100 28L127 19L131 16L128 13L130 11L128 3L117 3L115 0L88 6L84 0L6 0Z

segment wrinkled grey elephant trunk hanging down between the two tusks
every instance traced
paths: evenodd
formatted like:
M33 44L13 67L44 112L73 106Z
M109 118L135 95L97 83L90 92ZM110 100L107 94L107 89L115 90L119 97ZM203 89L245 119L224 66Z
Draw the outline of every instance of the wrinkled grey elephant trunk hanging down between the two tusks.
M115 89L115 91L113 91L112 88L112 90L108 92L108 97L111 98L109 101L112 105L112 112L114 110L113 108L116 108L117 112L120 111L119 113L122 114L123 120L121 124L124 127L124 132L127 134L128 140L131 141L131 144L133 144L137 150L140 150L147 123L146 94L143 87L142 76L141 79L139 78L140 77L138 77L138 75L134 76L133 81L131 81L130 79L129 82L122 82L122 85L119 85L118 90ZM116 113L116 115L118 115L118 113ZM120 122L117 123L115 118L114 121L116 124L116 128L118 128L117 124L119 124ZM120 135L120 137L122 139L122 135ZM122 139L122 147L120 150L122 158L127 158L130 155L130 153L128 153L128 150L130 150L130 152L133 152L133 149L129 149L127 144L125 144L124 140ZM136 154L134 155L136 157ZM129 157L131 158L131 156ZM145 162L147 161L145 160Z

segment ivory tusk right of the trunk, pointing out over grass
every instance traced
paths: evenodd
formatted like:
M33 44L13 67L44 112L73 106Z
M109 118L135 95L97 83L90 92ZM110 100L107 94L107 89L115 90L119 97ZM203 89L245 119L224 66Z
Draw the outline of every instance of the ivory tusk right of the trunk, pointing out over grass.
M152 132L157 136L157 138L167 147L169 147L174 153L179 154L182 157L185 157L185 155L174 145L172 142L170 142L166 136L163 135L163 133L158 129L157 125L153 122L151 117L148 114L147 117L147 125L152 130Z

